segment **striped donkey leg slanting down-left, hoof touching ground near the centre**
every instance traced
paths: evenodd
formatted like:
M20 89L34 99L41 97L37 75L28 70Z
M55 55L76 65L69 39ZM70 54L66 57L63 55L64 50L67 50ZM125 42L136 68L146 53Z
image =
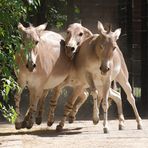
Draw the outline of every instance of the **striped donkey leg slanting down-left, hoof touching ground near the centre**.
M84 89L81 86L77 86L77 87L73 88L72 95L68 99L68 101L64 107L64 116L63 116L62 120L60 121L59 125L57 125L57 127L56 127L57 131L62 131L65 121L66 121L68 115L70 114L77 97L82 93L82 91L84 91Z

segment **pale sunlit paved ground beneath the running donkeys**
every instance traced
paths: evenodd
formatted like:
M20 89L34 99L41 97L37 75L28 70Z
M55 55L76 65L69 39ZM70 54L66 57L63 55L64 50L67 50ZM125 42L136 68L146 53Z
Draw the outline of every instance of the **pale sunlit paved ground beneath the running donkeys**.
M66 123L61 133L55 131L56 125L16 131L14 125L0 123L0 148L148 148L148 120L143 120L143 130L136 130L135 120L126 120L123 131L117 120L110 120L109 134L103 134L102 121Z

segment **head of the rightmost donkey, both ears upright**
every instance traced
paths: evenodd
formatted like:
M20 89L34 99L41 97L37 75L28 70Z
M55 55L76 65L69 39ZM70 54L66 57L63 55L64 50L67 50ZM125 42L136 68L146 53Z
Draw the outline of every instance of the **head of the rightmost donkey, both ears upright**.
M111 60L113 54L118 45L116 43L120 36L121 29L111 31L111 27L106 31L101 22L98 21L99 42L98 42L98 54L100 55L101 65L100 70L102 74L106 74L111 69Z

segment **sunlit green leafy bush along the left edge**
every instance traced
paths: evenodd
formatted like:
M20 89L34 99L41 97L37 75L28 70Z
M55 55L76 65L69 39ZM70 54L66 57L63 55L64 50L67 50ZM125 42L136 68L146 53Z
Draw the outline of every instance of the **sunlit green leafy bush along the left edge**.
M14 55L20 47L17 24L25 17L26 8L22 0L0 0L0 111L11 122L14 122L16 113L8 100L19 88L14 75Z

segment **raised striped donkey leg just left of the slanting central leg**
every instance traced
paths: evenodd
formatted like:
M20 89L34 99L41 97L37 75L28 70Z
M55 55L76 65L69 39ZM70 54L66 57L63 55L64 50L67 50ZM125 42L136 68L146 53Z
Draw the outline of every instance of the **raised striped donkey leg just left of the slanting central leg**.
M48 113L48 122L47 122L48 126L52 126L52 124L54 123L54 113L59 96L61 94L61 90L62 88L60 86L57 86L53 89L53 95L49 102L49 113Z

